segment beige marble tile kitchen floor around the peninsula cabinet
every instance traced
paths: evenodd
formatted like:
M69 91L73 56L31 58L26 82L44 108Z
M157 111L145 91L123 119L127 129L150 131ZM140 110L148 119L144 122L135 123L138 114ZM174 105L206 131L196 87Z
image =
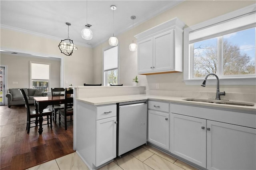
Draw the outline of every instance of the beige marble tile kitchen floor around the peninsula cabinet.
M74 152L28 170L88 170L88 167ZM196 170L196 168L150 145L144 145L122 158L116 158L99 170Z

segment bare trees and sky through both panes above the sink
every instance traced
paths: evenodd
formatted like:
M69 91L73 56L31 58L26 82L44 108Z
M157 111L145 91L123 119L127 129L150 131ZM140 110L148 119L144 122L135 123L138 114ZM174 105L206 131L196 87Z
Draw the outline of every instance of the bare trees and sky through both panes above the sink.
M196 42L192 48L193 77L255 74L255 28Z

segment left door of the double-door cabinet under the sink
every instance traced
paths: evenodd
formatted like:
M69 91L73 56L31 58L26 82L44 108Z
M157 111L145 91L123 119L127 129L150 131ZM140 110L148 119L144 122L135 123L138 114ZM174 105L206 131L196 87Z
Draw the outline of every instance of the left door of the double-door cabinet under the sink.
M206 120L171 113L170 152L206 168Z

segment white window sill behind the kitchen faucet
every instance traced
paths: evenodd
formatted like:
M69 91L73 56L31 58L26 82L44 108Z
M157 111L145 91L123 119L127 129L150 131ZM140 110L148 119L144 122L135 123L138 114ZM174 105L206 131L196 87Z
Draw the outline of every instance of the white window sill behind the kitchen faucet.
M256 77L219 77L220 85L256 85ZM198 79L187 79L183 80L186 85L201 85L204 78ZM206 85L216 85L217 79L214 77L208 77Z

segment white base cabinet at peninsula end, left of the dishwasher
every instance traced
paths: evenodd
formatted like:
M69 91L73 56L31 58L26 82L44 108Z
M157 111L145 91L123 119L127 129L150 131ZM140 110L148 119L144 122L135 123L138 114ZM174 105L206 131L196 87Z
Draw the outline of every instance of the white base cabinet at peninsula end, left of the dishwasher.
M76 101L74 150L89 169L116 158L116 111L116 104L95 106Z

